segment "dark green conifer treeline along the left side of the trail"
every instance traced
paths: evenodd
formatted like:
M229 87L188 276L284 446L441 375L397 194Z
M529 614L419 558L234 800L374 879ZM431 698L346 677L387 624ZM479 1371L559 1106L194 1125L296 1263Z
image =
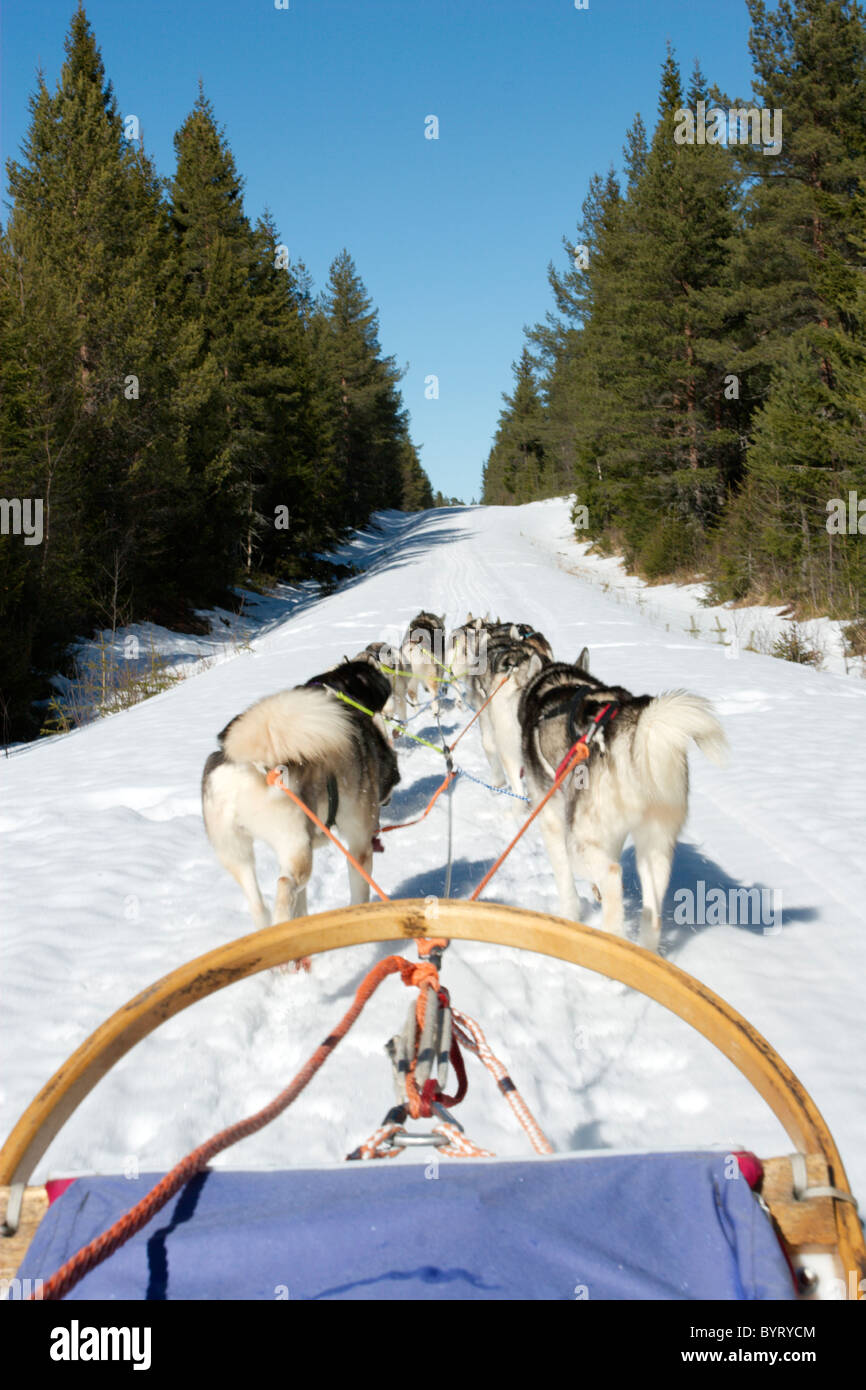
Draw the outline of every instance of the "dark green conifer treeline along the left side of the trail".
M38 731L75 637L183 627L236 582L317 573L377 507L432 506L349 253L314 296L271 218L247 221L202 92L161 179L82 7L65 51L0 238L6 738Z

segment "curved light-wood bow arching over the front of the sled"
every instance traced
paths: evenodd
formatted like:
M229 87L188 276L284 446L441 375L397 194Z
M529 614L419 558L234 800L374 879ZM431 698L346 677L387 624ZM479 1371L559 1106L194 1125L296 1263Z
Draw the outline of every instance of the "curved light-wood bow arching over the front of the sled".
M621 937L541 912L492 902L441 899L434 917L423 899L371 902L253 931L179 966L125 1004L64 1062L0 1150L0 1186L26 1183L46 1148L96 1083L136 1042L197 999L259 970L300 956L370 941L425 937L489 941L570 960L656 999L685 1019L752 1083L803 1154L822 1154L831 1183L851 1191L840 1154L815 1101L742 1015L699 980ZM856 1211L834 1202L845 1269L866 1275Z

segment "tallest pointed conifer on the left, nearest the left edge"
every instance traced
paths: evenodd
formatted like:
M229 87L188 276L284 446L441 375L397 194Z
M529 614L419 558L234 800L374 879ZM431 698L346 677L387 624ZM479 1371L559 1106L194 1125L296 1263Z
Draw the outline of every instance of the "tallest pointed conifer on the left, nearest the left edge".
M147 588L145 552L178 470L170 443L154 443L168 398L154 366L164 336L160 182L125 139L81 6L65 53L54 95L39 78L22 160L8 164L3 249L4 314L19 343L3 389L10 370L25 384L17 428L4 420L4 481L42 498L44 517L38 577L28 562L31 616L18 621L28 685L72 635L122 620ZM18 714L26 719L21 705Z

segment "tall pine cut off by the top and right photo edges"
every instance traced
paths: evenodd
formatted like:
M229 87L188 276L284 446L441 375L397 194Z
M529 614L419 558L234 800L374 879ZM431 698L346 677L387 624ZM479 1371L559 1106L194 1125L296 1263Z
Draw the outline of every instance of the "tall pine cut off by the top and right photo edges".
M862 578L847 542L827 532L826 506L866 489L856 309L866 25L849 0L785 0L773 13L749 0L749 11L756 99L784 126L777 154L737 150L749 185L733 265L744 325L733 370L758 409L717 592L849 612Z

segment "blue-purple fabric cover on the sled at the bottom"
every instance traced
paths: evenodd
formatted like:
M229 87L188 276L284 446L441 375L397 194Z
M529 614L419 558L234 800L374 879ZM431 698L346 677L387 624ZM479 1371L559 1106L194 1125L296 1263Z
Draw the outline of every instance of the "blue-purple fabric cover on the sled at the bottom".
M70 1300L792 1298L724 1154L209 1172ZM157 1179L78 1179L21 1277L47 1279Z

